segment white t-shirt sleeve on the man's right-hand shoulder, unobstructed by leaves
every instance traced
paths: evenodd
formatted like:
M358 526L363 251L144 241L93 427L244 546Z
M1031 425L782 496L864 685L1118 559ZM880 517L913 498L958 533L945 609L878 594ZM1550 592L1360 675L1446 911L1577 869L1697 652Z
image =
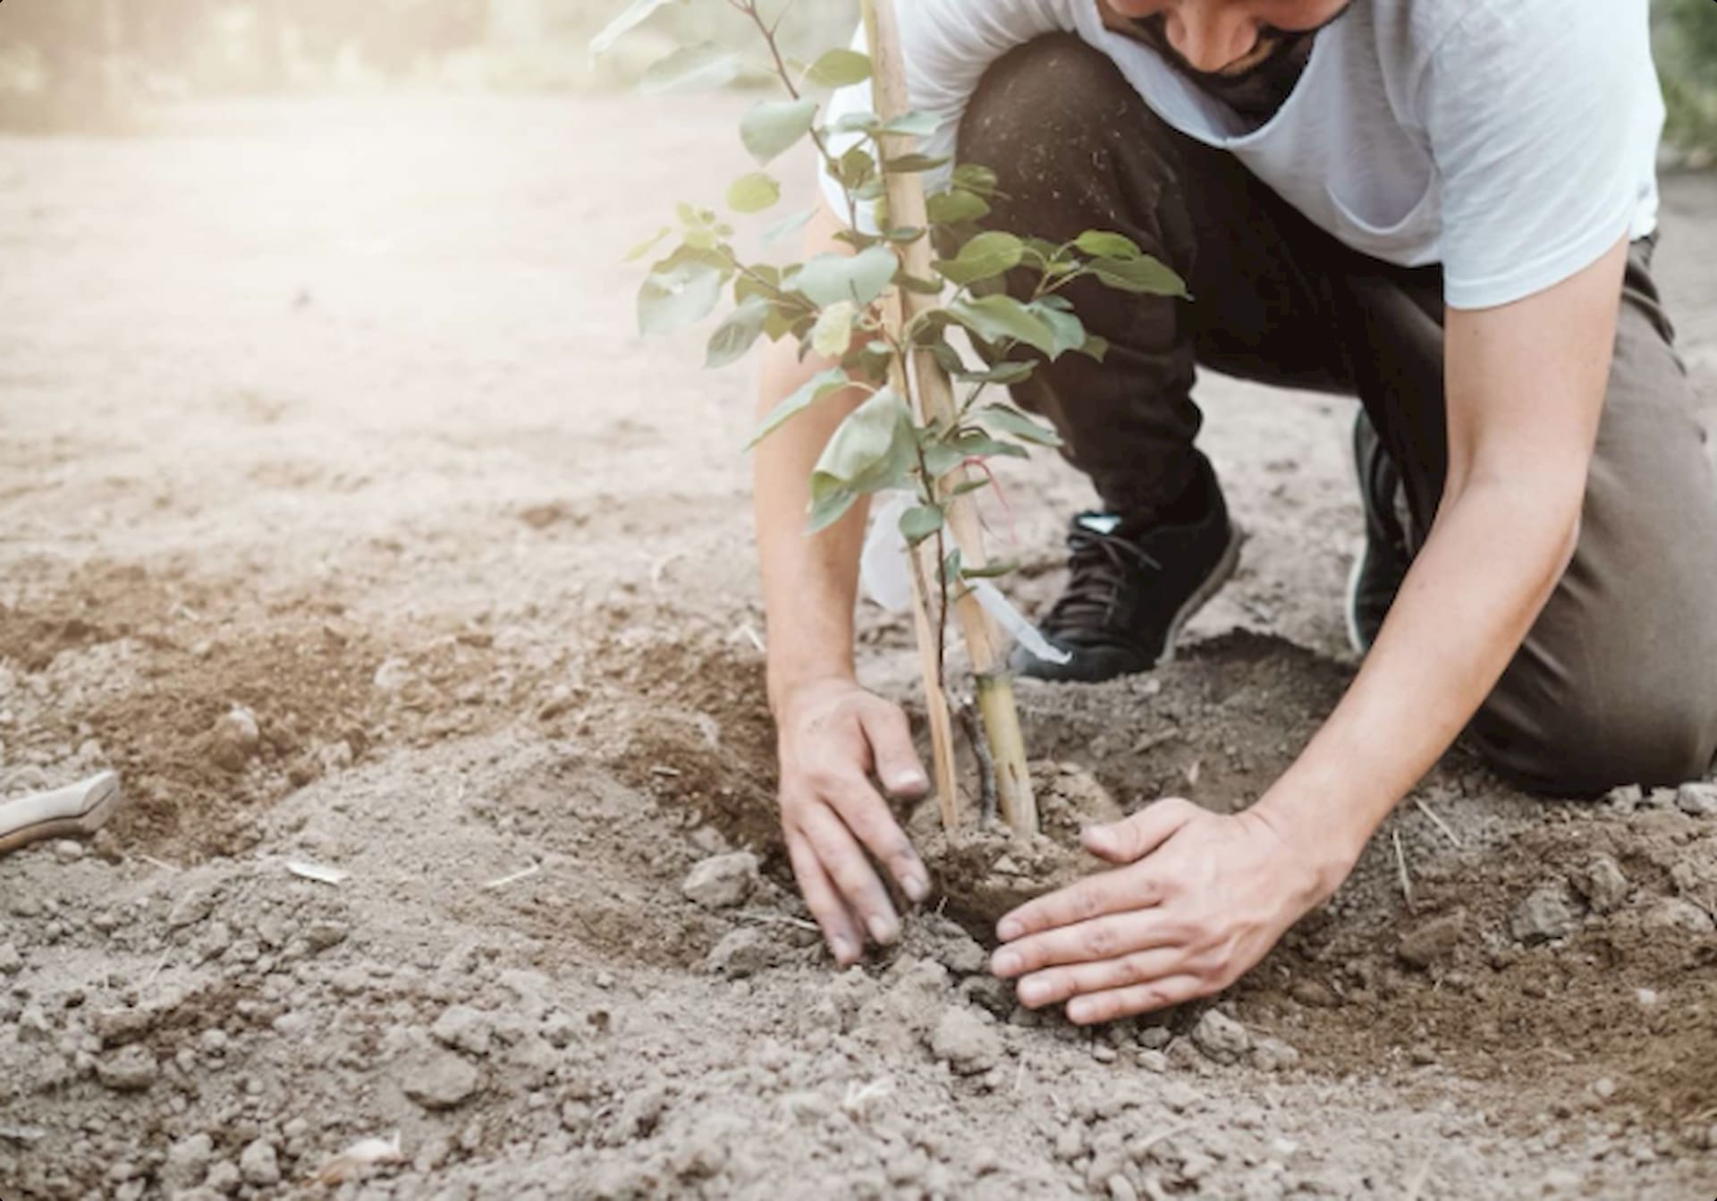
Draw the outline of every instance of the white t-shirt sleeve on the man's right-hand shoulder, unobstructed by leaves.
M1662 125L1641 57L1647 0L1492 0L1441 41L1423 115L1451 308L1542 292L1629 234Z

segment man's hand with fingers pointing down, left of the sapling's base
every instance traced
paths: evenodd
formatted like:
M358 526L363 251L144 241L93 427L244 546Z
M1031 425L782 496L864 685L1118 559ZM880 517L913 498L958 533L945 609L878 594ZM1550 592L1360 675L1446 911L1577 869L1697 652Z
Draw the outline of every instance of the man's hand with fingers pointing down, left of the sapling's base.
M865 850L913 902L931 876L901 832L889 796L924 796L929 780L912 746L907 715L850 679L822 679L785 692L778 706L781 830L805 905L843 967L858 960L865 933L900 936L900 919Z

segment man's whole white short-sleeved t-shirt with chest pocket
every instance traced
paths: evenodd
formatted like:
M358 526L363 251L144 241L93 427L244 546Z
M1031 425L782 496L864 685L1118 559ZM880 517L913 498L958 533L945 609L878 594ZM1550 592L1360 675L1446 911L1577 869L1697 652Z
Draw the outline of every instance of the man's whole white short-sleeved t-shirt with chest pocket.
M1259 127L1104 27L1097 0L896 3L912 107L941 120L925 153L953 153L996 58L1075 33L1166 122L1233 151L1341 242L1401 266L1441 263L1458 309L1540 292L1624 232L1657 227L1664 101L1648 0L1356 0ZM831 113L871 107L860 84ZM845 211L840 186L824 187Z

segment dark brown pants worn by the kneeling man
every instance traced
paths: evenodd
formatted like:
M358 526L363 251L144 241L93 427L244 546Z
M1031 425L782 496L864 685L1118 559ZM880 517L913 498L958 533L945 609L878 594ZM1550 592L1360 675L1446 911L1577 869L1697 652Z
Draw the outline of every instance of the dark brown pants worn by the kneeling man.
M1082 282L1070 299L1109 340L1106 361L1070 354L1016 388L1111 509L1168 505L1192 481L1204 364L1356 395L1423 541L1447 469L1439 268L1344 247L1233 155L1166 125L1071 36L991 67L960 158L999 177L987 223L1053 241L1126 234L1195 297ZM1717 488L1650 258L1638 242L1628 261L1573 565L1468 732L1535 790L1696 778L1717 751Z

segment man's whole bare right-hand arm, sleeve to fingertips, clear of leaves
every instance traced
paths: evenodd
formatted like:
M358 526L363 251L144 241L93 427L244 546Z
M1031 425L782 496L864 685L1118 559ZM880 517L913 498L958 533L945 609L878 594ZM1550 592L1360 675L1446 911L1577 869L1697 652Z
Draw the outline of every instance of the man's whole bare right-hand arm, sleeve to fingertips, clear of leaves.
M1514 304L1447 314L1437 521L1341 704L1252 809L1161 801L1085 845L1125 864L1003 918L996 974L1075 1022L1219 991L1353 869L1477 713L1568 567L1626 242Z

